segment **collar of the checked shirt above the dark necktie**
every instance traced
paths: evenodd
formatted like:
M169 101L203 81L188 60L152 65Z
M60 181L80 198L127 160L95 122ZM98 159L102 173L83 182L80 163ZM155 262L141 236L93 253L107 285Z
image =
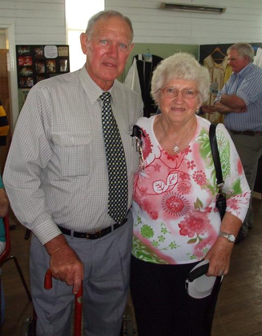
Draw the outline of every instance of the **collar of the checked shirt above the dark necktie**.
M100 99L100 95L103 93L103 90L89 76L87 69L86 69L86 65L84 65L80 69L79 77L84 87L84 90L87 92L90 102L93 105L98 99ZM115 82L116 81L114 81L113 86L108 90L108 92L111 93L112 102L116 105L116 83Z

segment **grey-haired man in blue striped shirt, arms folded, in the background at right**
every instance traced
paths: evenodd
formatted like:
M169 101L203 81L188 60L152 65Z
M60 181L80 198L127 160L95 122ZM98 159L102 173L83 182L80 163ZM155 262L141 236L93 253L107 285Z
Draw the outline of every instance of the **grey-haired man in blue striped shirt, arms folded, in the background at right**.
M242 161L249 187L253 190L262 154L262 68L252 63L254 50L250 44L235 43L227 54L233 74L218 92L214 105L216 111L225 115L225 126ZM250 203L236 243L245 238L252 225Z

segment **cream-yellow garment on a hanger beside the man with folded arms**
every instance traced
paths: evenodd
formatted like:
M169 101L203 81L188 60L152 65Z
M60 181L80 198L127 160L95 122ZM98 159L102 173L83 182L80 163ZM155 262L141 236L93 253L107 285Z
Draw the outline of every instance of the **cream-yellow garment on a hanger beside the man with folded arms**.
M226 57L222 63L216 63L211 55L208 55L204 59L204 66L208 69L211 77L210 95L207 104L213 105L217 92L223 88L227 64ZM205 118L210 120L210 122L222 122L223 120L223 116L218 112L212 114L206 113Z

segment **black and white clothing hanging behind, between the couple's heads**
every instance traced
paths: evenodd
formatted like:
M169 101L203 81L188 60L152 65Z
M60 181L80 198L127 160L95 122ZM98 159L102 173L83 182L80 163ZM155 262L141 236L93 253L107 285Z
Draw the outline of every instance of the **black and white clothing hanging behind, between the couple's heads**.
M133 63L126 75L124 84L141 94L144 102L144 117L155 114L157 106L151 98L151 78L157 64L163 59L156 55L139 54L134 56Z

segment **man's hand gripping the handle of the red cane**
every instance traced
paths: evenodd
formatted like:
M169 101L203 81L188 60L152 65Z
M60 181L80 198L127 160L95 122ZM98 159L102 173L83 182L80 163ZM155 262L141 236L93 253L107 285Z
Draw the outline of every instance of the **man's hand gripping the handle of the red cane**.
M62 234L46 243L45 248L50 255L52 276L73 285L73 294L77 294L84 278L84 265L76 252Z

